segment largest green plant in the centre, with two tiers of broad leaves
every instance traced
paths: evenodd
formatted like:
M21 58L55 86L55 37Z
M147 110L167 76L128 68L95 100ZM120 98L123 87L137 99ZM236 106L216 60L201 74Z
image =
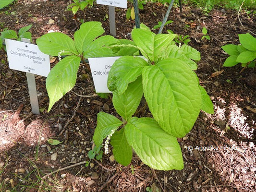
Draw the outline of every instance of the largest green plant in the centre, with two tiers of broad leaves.
M176 36L156 35L143 26L132 31L135 45L112 46L135 47L146 59L123 56L114 62L108 87L122 121L99 112L93 136L96 146L105 140L106 154L110 142L116 161L124 166L130 164L133 148L151 168L183 169L176 137L181 138L192 129L200 109L214 112L193 71L197 68L193 60L200 60L200 53L187 45L174 45ZM143 95L153 118L133 117Z

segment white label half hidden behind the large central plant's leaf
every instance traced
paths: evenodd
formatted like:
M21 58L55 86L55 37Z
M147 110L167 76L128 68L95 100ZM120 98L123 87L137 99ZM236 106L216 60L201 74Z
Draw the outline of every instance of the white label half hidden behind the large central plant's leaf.
M112 93L108 89L108 76L114 62L120 57L89 58L96 93Z

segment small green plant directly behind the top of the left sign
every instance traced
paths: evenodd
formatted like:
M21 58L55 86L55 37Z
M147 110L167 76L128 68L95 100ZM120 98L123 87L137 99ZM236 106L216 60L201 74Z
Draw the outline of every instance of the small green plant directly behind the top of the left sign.
M2 48L2 43L4 42L5 38L6 39L15 39L17 41L21 41L21 38L27 38L27 39L30 39L30 41L32 41L31 33L28 32L28 30L31 27L32 27L32 24L20 28L18 34L14 30L5 30L5 31L1 32L0 48ZM5 47L4 47L4 49L5 49Z

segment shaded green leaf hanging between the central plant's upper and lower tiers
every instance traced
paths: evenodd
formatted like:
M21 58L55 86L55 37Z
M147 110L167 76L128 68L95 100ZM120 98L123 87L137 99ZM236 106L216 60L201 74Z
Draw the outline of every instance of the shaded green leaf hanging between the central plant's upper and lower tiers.
M143 95L142 78L128 85L127 90L119 95L117 91L113 92L113 105L117 113L126 121L129 120L138 108Z

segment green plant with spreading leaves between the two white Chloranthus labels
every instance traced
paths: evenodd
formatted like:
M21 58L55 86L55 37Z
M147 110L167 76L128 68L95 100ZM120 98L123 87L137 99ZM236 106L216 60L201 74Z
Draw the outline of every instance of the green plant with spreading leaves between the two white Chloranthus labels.
M134 48L108 48L121 42L127 44L133 42L118 40L113 36L101 36L104 32L100 22L86 22L74 33L74 40L59 32L48 33L37 39L38 48L43 53L58 56L60 60L46 79L46 89L50 99L48 112L54 103L73 88L80 62L85 63L85 58L133 55L137 51ZM61 56L67 57L61 60ZM85 66L89 69L86 63Z

